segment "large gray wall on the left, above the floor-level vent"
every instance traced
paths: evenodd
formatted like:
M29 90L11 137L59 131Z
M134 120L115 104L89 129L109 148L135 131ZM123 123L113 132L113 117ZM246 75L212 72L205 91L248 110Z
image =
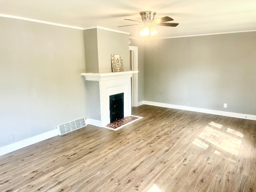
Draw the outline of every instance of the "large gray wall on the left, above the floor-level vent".
M83 31L0 17L0 147L88 118Z

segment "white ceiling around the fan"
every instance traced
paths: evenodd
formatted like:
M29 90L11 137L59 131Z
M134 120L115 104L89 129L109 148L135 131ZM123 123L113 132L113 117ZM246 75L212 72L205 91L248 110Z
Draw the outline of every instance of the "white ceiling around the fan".
M139 37L141 11L170 16L176 27L156 26L156 38L256 30L256 0L0 0L0 15L78 28L101 26Z

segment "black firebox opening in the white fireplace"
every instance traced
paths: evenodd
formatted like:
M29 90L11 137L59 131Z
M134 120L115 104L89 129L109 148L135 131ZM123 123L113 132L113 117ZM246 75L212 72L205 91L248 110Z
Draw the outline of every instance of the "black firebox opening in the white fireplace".
M110 123L124 118L124 93L109 96Z

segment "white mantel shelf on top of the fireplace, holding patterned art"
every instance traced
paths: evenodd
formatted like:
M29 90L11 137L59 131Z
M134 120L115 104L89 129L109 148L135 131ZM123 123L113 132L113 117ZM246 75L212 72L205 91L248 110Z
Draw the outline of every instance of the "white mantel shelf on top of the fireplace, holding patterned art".
M138 73L138 71L123 71L123 72L111 72L111 73L81 73L81 76L85 76L88 81L106 81L120 78L132 77L132 74Z

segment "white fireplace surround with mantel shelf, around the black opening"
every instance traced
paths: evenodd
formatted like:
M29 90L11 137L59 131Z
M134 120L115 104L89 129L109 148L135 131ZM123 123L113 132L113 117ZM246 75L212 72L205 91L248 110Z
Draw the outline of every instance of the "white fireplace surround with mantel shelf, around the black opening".
M98 81L100 91L100 125L110 123L109 96L124 93L124 117L132 113L131 104L131 77L138 71L124 71L111 73L81 73L87 81ZM90 102L90 101L88 101Z

